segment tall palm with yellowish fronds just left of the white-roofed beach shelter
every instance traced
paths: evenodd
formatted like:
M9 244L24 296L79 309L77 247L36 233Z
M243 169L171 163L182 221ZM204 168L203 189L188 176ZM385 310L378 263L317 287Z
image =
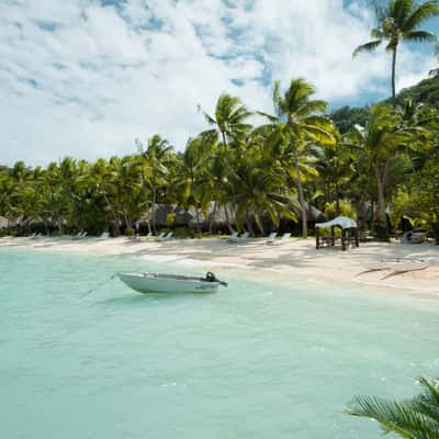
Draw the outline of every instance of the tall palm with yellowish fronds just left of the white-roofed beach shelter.
M275 115L259 112L271 122L274 135L289 143L289 154L293 158L295 179L299 189L299 202L302 211L302 236L307 237L307 216L305 195L302 185L300 155L308 142L331 145L335 143L334 126L329 119L316 115L324 112L327 103L312 100L315 89L304 79L292 79L283 95L280 94L280 82L274 82L273 104ZM264 130L264 127L262 127Z

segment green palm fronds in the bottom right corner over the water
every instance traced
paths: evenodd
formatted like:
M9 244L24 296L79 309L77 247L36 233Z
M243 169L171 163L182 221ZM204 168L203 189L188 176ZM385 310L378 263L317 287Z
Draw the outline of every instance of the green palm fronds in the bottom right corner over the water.
M376 420L383 431L406 439L439 438L439 381L419 379L424 392L405 402L356 396L346 413Z

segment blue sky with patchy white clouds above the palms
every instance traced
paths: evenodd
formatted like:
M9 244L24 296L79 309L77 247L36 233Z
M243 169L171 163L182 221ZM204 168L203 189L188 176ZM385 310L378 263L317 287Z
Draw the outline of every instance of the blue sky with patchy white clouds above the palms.
M0 164L134 154L156 133L182 150L207 128L198 104L271 112L274 79L331 109L386 98L384 48L351 56L373 24L368 0L0 0ZM403 45L397 88L437 64Z

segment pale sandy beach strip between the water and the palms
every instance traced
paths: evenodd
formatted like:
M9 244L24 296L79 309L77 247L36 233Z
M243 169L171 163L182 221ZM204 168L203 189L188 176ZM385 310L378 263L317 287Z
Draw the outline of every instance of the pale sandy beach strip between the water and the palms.
M339 247L316 250L314 239L291 239L283 245L249 239L245 244L228 244L225 239L172 239L158 243L125 237L70 237L36 239L26 237L0 238L1 248L33 248L40 251L65 251L93 256L133 256L162 263L178 263L201 272L211 270L219 277L238 274L261 281L291 283L322 281L331 284L357 285L371 291L414 293L439 296L439 246L431 244L365 243L359 248L341 251ZM427 268L393 273L392 270L364 272L376 262L396 258L423 259ZM395 274L395 275L393 275Z

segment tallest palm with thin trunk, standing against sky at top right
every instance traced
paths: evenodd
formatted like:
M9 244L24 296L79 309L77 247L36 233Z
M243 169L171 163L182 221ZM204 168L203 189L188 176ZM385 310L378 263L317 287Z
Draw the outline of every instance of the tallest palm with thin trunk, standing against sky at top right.
M353 56L361 52L373 52L384 41L387 43L385 49L392 53L392 102L396 105L396 53L402 41L407 42L436 42L436 35L431 32L419 31L418 26L430 19L439 15L439 5L436 0L425 1L421 4L415 0L390 0L383 8L375 3L375 15L378 27L371 30L369 43L358 46Z

